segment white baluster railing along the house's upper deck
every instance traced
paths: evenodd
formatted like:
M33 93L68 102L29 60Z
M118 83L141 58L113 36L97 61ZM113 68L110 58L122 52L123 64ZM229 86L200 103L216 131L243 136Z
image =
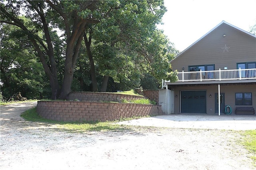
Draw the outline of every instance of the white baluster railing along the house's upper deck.
M188 71L178 72L178 81L211 81L211 80L244 80L256 79L255 69L233 69L233 70L213 70L213 71ZM163 81L170 82L170 81Z

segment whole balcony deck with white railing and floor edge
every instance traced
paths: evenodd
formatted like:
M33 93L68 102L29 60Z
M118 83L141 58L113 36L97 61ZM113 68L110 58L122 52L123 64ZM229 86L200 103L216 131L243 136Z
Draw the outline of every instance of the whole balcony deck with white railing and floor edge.
M166 84L208 84L208 83L240 83L256 82L255 69L232 69L213 71L188 71L179 72L178 81L170 83L163 81L162 87Z

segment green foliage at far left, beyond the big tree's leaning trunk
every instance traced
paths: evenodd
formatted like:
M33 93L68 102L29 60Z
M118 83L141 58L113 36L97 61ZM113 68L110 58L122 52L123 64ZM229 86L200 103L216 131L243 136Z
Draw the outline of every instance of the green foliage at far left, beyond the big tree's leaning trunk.
M24 32L1 26L1 91L4 98L21 92L27 99L48 97L48 80Z

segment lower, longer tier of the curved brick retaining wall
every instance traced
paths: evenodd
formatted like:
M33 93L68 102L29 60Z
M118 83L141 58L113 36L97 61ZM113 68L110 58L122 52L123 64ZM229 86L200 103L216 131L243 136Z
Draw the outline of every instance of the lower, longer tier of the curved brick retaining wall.
M37 113L56 121L113 121L120 118L163 115L160 105L85 101L38 101Z

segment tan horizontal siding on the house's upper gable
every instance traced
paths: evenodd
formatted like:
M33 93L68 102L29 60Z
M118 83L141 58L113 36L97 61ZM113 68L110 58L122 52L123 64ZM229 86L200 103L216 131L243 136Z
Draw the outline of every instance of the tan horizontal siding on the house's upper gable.
M226 37L223 37L226 34ZM223 52L222 47L230 47ZM194 44L179 57L174 59L173 70L188 71L191 65L214 64L215 70L236 69L237 63L256 61L256 39L244 32L228 26L220 25L202 40Z

